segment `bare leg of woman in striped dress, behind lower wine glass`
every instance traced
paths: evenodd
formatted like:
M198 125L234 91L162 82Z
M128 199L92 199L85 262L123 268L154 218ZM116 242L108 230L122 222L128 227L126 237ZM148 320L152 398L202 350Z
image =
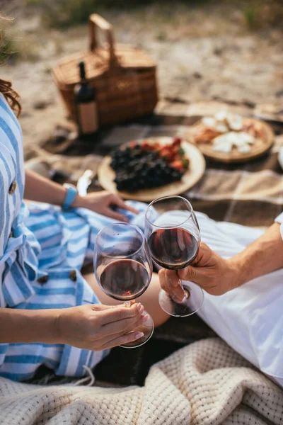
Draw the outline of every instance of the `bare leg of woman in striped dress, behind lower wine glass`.
M105 305L117 305L121 304L121 301L114 300L114 298L109 297L106 295L103 290L100 288L100 286L97 283L96 276L94 276L94 273L85 274L83 276L86 281L88 282L88 285L91 286L92 290L102 302L102 304ZM151 283L149 285L149 288L136 299L137 302L141 302L142 305L144 305L144 309L146 312L148 312L152 319L154 320L154 326L158 327L166 320L169 319L169 315L164 312L158 302L158 293L160 291L160 285L159 285L159 278L156 273L153 273Z

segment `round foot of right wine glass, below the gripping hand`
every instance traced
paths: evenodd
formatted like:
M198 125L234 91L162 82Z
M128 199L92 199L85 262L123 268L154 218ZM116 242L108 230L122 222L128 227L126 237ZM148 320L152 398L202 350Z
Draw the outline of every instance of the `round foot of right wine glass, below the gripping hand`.
M166 313L174 317L187 317L195 314L202 307L204 293L200 286L195 283L183 282L183 288L188 297L184 297L182 302L175 302L173 298L161 289L158 300L159 304Z

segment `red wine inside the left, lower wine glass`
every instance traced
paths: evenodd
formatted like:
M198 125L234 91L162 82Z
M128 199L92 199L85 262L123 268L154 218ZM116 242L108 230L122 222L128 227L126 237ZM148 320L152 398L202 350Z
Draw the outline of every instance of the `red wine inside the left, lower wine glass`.
M108 264L101 273L100 285L115 300L134 300L149 286L146 268L135 260L118 259Z

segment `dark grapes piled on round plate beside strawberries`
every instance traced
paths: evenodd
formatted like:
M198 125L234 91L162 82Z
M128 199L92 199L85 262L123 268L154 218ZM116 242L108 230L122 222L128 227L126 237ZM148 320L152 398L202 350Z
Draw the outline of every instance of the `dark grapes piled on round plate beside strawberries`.
M180 180L184 173L171 166L158 151L144 149L138 144L115 150L111 158L118 191L156 188Z

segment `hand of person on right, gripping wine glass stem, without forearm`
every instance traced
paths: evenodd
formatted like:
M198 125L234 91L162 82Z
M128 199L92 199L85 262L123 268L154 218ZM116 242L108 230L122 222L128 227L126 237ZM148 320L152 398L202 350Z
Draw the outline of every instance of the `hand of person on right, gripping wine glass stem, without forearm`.
M222 295L238 286L238 268L233 259L223 259L203 243L190 266L178 271L162 269L158 274L161 288L176 302L184 297L179 279L191 280L212 295Z

